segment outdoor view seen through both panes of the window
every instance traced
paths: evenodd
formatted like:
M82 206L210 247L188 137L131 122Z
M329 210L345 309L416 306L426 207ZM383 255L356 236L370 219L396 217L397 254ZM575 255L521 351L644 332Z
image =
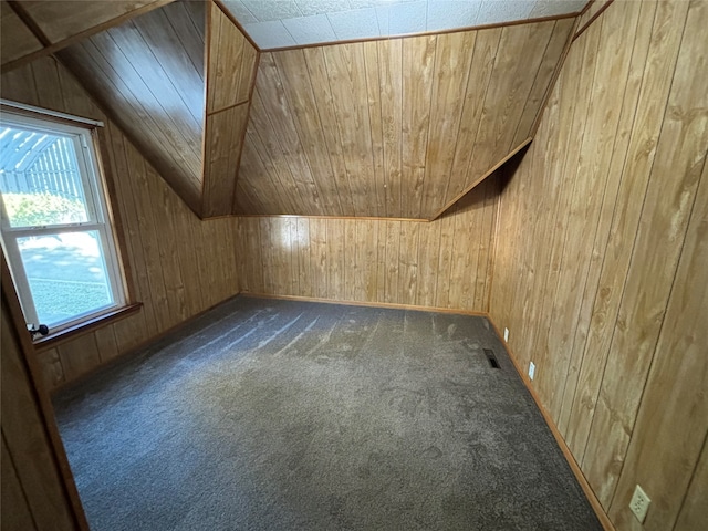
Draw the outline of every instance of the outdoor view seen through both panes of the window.
M75 143L2 127L0 147L3 239L9 254L15 254L15 274L22 268L39 322L51 327L112 305L101 232L90 230L95 220Z

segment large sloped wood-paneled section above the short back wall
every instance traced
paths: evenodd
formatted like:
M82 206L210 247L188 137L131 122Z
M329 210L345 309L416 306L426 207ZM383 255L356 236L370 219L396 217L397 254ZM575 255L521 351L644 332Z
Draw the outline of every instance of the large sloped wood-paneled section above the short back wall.
M262 54L238 212L435 218L530 136L572 27Z

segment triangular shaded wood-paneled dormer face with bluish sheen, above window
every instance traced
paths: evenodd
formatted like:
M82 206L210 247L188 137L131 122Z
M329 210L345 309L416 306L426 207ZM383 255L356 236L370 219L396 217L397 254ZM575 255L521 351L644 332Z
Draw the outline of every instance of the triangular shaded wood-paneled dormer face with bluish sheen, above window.
M59 52L195 211L201 208L204 2L174 2Z

